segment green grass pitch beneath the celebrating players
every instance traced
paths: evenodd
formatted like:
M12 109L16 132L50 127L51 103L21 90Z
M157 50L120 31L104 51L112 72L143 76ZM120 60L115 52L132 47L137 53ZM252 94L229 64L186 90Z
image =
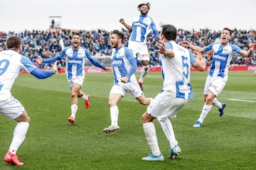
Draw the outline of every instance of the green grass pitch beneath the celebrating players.
M22 74L12 94L23 103L31 117L26 140L18 149L24 166L0 162L0 169L256 169L256 78L252 72L230 72L218 100L227 104L223 117L214 107L201 128L193 128L203 107L203 86L207 72L192 72L191 101L171 120L182 153L169 159L169 144L155 120L164 162L144 162L149 153L142 128L146 106L127 94L119 102L118 132L104 134L110 125L108 95L112 74L87 74L82 91L91 95L85 109L79 100L75 124L69 125L70 90L65 74L39 80ZM139 77L139 73L137 73ZM161 74L149 72L144 80L146 96L161 90ZM0 158L9 148L14 120L0 116Z

